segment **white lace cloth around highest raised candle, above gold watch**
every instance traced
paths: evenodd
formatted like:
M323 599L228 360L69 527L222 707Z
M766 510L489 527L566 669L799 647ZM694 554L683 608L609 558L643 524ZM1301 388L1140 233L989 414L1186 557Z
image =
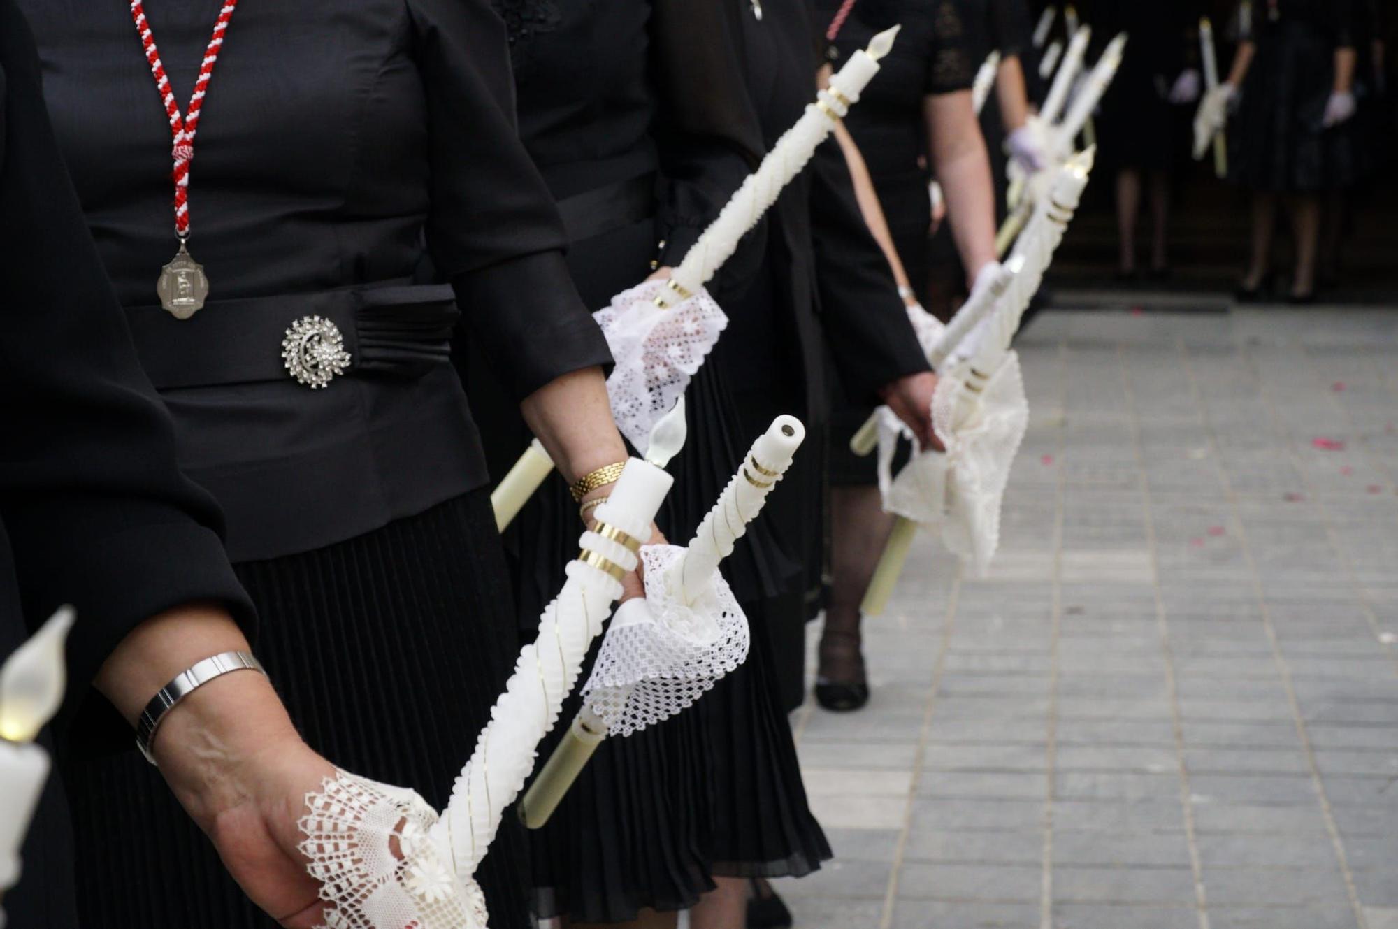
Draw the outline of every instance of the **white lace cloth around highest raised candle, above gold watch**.
M675 299L665 281L646 281L593 313L615 361L607 378L612 418L642 455L650 444L650 430L684 395L728 325L723 309L703 288L668 309L656 305L661 295Z

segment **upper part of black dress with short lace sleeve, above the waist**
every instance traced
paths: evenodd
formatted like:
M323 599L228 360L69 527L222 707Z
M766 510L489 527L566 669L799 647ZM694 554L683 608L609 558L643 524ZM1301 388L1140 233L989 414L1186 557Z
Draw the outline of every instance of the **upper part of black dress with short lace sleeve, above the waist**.
M839 3L815 0L814 10L823 31ZM956 0L860 0L829 50L836 70L892 25L903 27L893 50L846 120L875 178L918 171L927 154L923 98L969 90L980 64L972 60L974 36Z

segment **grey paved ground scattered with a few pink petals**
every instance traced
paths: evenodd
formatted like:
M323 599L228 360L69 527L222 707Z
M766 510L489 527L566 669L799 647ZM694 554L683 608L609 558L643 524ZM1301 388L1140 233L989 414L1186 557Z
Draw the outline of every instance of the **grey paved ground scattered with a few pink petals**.
M837 855L798 929L1398 929L1398 313L1021 357L993 575L920 539L870 707L794 718Z

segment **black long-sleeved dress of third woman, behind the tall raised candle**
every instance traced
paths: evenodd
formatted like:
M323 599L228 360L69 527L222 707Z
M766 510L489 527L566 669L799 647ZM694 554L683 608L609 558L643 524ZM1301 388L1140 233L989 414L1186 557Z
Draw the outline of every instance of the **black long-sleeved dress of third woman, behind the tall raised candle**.
M748 95L772 146L814 95L809 14L801 0L766 0L762 18L747 0L728 1L741 13ZM779 413L795 413L807 427L763 516L788 558L802 564L801 583L754 623L765 631L759 638L774 658L781 704L791 709L804 697L804 621L819 609L825 564L828 358L844 392L863 403L874 403L888 382L925 371L927 361L833 140L783 190L768 227L763 271L728 306L733 322L714 362L733 385L748 434Z

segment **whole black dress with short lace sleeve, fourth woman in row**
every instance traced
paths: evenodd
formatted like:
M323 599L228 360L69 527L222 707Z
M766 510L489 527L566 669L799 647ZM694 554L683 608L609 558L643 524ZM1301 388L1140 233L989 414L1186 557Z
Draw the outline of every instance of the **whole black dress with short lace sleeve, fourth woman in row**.
M815 0L816 25L837 10ZM875 34L900 24L893 50L864 90L846 123L868 164L893 248L917 291L927 301L931 199L927 193L927 120L923 99L970 88L976 77L976 34L955 0L860 0L830 45L836 69ZM864 424L871 404L836 390L830 430L830 483L870 485L877 481L874 456L850 452L850 438Z

